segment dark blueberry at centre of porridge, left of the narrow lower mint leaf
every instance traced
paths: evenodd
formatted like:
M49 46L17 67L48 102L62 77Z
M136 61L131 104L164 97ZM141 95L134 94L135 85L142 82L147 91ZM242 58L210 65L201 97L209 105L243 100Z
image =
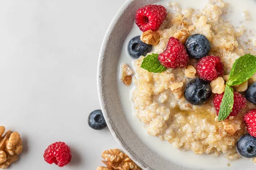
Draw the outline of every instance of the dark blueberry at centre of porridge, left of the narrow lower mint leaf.
M192 79L185 88L184 96L192 105L204 104L212 94L212 89L204 79Z

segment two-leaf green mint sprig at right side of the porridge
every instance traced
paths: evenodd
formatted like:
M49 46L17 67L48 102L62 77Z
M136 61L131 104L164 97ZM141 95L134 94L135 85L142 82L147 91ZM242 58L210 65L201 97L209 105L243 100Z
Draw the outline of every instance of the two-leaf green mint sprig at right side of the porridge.
M239 57L234 62L226 87L224 96L221 102L220 110L218 113L218 121L227 119L232 111L234 104L233 88L230 86L240 85L250 79L256 72L256 57L251 54L246 54Z

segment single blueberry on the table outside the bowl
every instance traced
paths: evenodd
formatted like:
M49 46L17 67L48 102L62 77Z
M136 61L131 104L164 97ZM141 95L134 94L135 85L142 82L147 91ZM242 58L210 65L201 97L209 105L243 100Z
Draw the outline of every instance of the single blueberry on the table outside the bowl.
M96 110L89 114L88 124L95 130L102 130L107 126L101 110Z

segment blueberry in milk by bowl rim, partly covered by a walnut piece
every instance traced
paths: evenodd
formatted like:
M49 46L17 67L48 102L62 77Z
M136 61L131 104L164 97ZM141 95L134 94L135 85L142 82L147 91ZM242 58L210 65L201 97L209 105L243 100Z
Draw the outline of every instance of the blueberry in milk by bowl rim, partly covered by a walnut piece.
M128 52L135 59L147 55L151 49L152 45L142 42L140 36L134 37L128 44Z

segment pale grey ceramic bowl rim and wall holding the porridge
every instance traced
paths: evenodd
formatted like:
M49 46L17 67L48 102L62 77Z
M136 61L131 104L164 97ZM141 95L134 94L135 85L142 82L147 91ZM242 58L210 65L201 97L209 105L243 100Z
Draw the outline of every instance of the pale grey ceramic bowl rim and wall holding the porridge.
M129 126L119 99L117 77L119 77L119 57L123 43L131 28L134 26L134 15L137 9L157 2L159 2L159 0L127 0L113 18L99 54L97 70L99 101L108 128L114 138L125 153L143 168L143 170L192 170L195 167L178 166L175 162L167 161L167 159L164 159L159 156L159 154L149 149ZM215 158L211 156L210 159ZM185 157L184 164L186 164ZM234 167L226 168L234 170ZM224 169L226 170L226 168ZM209 169L215 170L214 167ZM254 168L250 166L246 168L235 167L235 169L253 170Z

